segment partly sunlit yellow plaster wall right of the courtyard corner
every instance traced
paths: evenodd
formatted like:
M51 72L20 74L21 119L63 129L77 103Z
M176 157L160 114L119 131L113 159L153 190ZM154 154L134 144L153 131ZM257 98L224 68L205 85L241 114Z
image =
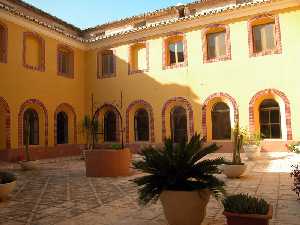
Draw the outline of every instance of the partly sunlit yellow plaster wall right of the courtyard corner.
M300 118L299 100L299 35L300 10L279 14L283 52L279 55L250 57L248 47L247 18L230 21L232 60L203 63L201 28L185 32L188 45L188 66L162 70L163 37L149 42L149 72L128 75L128 45L114 47L117 56L117 74L113 78L96 79L96 52L87 53L86 87L87 96L94 93L96 101L113 102L119 100L123 91L123 116L126 107L134 100L143 99L153 107L156 142L161 142L163 104L174 96L187 98L194 111L195 131L202 132L201 105L216 92L231 95L239 107L242 126L249 126L249 102L259 91L274 88L285 93L291 103L292 129L294 139L300 138L297 124ZM90 105L87 100L87 106ZM229 105L231 109L231 107ZM231 113L232 114L232 113ZM233 114L231 115L233 120ZM132 119L130 120L132 123ZM211 122L208 118L208 128ZM285 123L285 121L283 121ZM167 135L170 135L169 117L166 117ZM132 124L130 124L133 127ZM130 142L133 141L133 129ZM283 131L284 132L284 131ZM211 139L211 132L208 132Z

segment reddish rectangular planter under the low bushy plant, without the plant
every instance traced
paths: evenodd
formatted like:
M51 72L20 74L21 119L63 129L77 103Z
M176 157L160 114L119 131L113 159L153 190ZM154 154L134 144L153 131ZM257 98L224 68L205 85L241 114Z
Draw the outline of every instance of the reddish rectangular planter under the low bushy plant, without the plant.
M268 225L269 220L273 216L273 207L269 205L269 211L266 215L258 214L239 214L224 212L223 213L227 218L228 225Z

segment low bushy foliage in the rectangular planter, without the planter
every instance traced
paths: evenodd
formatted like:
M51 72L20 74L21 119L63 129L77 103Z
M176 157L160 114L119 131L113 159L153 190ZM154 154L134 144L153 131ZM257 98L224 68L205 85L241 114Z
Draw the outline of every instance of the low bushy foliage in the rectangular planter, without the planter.
M224 210L232 213L266 215L269 210L269 204L264 199L248 194L227 196L222 203Z

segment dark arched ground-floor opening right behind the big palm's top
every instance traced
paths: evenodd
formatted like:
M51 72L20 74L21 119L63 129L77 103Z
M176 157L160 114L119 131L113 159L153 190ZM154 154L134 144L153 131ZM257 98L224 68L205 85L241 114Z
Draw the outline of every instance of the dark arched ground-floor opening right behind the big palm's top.
M181 106L177 106L171 111L171 132L175 143L188 139L186 111Z

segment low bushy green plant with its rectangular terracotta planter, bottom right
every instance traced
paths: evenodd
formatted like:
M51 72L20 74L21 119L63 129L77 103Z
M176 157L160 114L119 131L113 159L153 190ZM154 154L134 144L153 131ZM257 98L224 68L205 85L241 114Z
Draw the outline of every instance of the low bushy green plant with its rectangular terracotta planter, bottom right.
M245 194L225 197L222 201L228 225L268 225L273 208L264 199Z

